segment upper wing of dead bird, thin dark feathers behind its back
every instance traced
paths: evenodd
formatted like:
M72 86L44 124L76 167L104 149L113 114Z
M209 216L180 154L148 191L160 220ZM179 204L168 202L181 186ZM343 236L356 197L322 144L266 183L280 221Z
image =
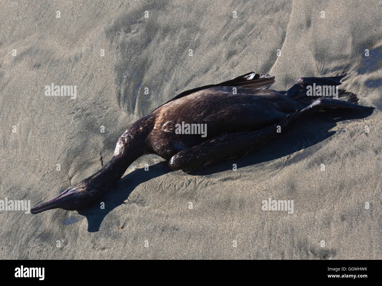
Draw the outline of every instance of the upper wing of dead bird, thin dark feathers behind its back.
M182 98L183 96L189 95L196 91L201 91L202 89L212 88L215 86L240 86L243 88L251 88L251 89L266 89L266 88L269 88L274 83L275 83L275 76L266 75L265 73L250 72L250 73L246 73L245 75L238 76L237 78L234 78L233 80L224 81L216 85L205 85L199 88L193 88L193 89L183 91L182 93L178 94L177 96L170 99L166 103L178 98ZM163 103L162 105L166 103ZM158 106L156 109L158 109L159 107L160 106Z

